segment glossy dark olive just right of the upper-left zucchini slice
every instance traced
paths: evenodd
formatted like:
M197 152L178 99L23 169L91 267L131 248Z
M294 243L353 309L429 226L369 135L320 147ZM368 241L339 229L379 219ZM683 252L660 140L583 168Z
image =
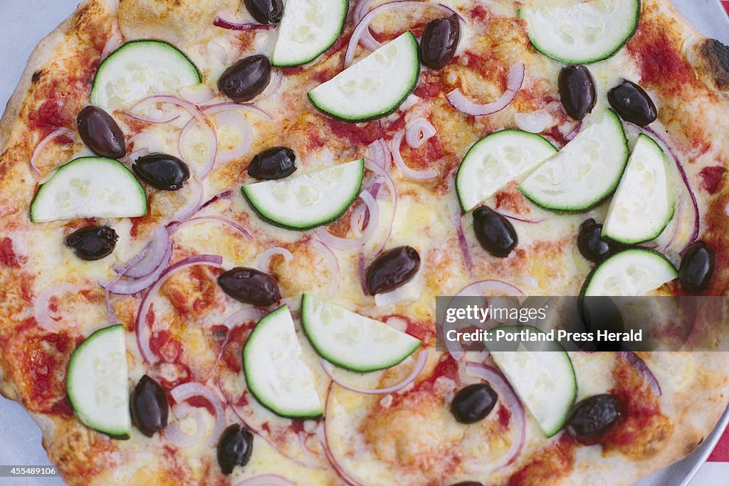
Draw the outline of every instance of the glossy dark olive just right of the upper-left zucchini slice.
M270 80L270 60L265 55L256 54L239 60L223 71L218 79L218 87L235 103L241 103L260 95Z

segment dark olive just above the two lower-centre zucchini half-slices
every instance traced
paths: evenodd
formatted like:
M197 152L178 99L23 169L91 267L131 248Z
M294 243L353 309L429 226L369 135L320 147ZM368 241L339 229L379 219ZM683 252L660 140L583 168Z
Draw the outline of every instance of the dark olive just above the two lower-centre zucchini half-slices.
M235 267L218 277L218 285L238 302L268 307L281 300L276 279L260 270Z

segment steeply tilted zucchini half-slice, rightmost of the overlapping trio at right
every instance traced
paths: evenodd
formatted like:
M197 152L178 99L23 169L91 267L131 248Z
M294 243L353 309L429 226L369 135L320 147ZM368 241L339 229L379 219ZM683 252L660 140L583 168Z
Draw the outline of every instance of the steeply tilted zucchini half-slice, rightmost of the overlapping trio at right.
M666 154L641 134L615 189L602 235L625 245L652 240L671 221L674 207Z

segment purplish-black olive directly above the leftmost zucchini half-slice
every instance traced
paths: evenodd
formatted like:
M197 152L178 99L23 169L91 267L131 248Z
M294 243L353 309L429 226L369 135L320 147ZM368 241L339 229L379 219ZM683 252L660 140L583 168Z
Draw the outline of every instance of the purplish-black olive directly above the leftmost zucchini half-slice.
M95 154L118 159L124 157L127 146L124 134L117 122L101 108L86 106L76 117L81 140Z

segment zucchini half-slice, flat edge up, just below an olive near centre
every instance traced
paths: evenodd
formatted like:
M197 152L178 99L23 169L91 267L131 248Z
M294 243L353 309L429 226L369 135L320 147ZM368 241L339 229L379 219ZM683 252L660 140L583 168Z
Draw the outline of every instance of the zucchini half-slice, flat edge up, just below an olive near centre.
M330 223L347 210L362 189L364 160L320 171L243 186L243 196L266 222L292 230Z

